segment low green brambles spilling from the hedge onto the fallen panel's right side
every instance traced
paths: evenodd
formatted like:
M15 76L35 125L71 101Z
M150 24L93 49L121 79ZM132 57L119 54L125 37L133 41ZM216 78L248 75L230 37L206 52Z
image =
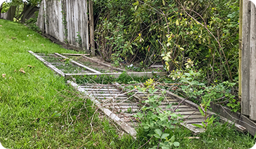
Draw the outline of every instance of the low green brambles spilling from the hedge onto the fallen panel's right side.
M224 81L217 85L206 85L204 80L204 74L202 70L176 70L170 73L170 78L182 83L180 89L185 93L186 97L191 100L202 101L204 106L209 106L208 101L225 104L229 106L232 111L237 112L240 110L240 102L235 98L232 89L236 83L229 83Z

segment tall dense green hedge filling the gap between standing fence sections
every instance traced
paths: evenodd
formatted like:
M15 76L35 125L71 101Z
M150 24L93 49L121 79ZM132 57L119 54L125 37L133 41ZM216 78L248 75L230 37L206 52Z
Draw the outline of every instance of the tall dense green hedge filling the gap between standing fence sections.
M210 82L238 76L238 0L95 0L104 60L155 62L167 70L198 62ZM217 39L217 40L216 40ZM114 56L112 56L114 54Z

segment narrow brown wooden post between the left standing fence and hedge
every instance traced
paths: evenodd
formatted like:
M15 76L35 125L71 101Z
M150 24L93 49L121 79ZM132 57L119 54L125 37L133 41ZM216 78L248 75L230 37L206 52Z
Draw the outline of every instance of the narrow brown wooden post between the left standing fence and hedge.
M90 47L91 47L91 56L95 56L93 1L91 1L91 0L89 0L89 20L90 20Z

